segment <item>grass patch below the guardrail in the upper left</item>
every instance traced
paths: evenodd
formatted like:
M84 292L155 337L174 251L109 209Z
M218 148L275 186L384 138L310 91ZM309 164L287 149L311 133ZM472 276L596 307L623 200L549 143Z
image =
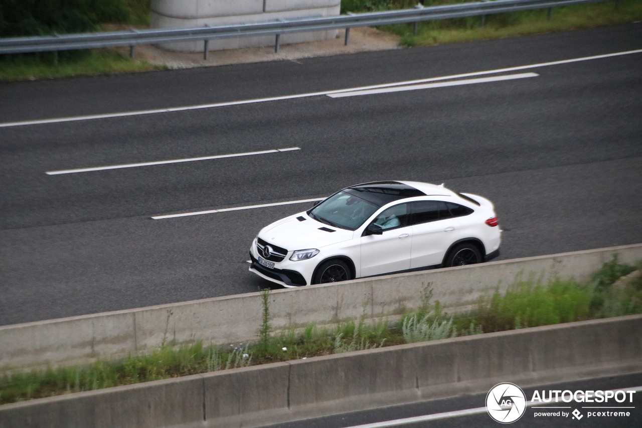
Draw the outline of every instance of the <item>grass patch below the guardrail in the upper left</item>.
M0 80L34 80L76 75L132 73L165 68L107 49L60 52L57 65L54 63L52 52L37 55L0 55Z

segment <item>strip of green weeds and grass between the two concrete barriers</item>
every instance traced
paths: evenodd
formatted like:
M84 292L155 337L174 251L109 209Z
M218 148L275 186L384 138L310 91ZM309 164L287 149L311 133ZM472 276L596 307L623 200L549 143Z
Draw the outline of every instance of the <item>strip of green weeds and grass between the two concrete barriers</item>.
M637 269L641 267L642 262ZM639 314L642 277L616 283L635 269L614 258L587 283L551 280L542 284L535 278L517 278L504 295L496 292L484 296L476 310L455 316L444 312L438 301L431 302L428 285L422 293L422 307L404 314L394 325L386 319L374 325L356 319L333 330L309 325L300 335L294 330L270 334L270 293L264 290L263 323L256 343L171 346L163 341L147 355L132 355L120 361L4 376L0 377L0 404L331 353ZM170 317L168 312L168 325Z

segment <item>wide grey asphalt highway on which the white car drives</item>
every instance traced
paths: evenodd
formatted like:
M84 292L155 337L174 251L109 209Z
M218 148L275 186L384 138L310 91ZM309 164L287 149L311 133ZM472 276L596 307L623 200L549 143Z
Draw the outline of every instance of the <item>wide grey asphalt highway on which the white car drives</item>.
M642 242L642 53L464 78L535 73L512 80L15 122L283 97L641 48L642 24L630 24L0 84L0 325L256 291L269 283L247 271L252 238L309 203L150 217L324 197L367 181L446 183L488 197L505 231L502 258ZM46 174L291 147L300 150Z

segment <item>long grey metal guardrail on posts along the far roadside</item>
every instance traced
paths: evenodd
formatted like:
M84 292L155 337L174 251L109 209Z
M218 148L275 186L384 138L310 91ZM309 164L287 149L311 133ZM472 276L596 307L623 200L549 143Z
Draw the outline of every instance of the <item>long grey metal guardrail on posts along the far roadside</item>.
M431 7L417 5L414 9L349 13L348 15L334 17L280 19L278 21L260 22L256 24L204 26L200 28L177 28L171 30L132 29L130 31L105 31L45 37L10 37L0 39L0 54L130 46L130 55L133 57L134 46L137 44L205 40L204 56L205 59L207 59L207 41L211 39L275 35L275 51L278 51L279 35L284 33L345 28L345 44L348 44L349 30L352 27L415 22L416 34L417 24L421 21L438 21L440 19L471 16L485 17L485 15L492 15L494 13L535 9L548 9L548 18L550 19L553 8L568 6L570 4L596 3L598 1L606 0L482 0L479 3L459 3ZM617 4L617 0L615 1Z

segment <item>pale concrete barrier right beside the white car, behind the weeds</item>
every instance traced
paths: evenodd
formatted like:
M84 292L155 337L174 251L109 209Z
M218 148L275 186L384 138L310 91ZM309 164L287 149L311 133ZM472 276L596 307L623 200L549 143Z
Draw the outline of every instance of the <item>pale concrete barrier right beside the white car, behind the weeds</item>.
M519 274L586 280L616 253L621 262L634 263L642 259L642 244L275 290L272 326L278 331L361 316L392 319L420 307L428 283L446 310L461 310L498 285L505 290ZM0 326L0 373L126 357L164 338L173 344L247 343L257 339L260 325L261 296L248 293Z

